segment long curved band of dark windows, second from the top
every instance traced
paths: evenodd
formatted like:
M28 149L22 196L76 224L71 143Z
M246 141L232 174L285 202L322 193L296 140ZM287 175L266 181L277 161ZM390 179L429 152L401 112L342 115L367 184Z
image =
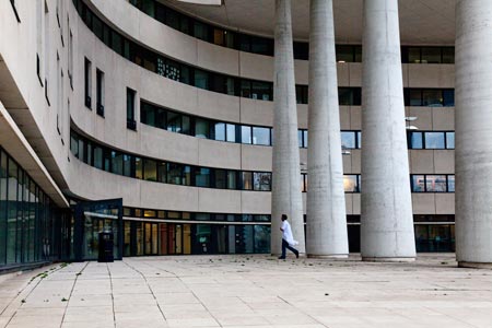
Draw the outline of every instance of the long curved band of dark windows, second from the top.
M110 28L106 23L98 19L82 0L73 0L73 3L84 23L103 43L128 60L148 70L167 79L212 92L253 99L273 101L272 82L241 79L209 72L165 58L164 56L124 37L121 34ZM90 85L86 85L86 87L90 87ZM296 101L298 104L308 103L307 85L296 85ZM405 103L406 106L454 106L454 90L406 89ZM339 104L344 106L360 106L361 87L340 87Z

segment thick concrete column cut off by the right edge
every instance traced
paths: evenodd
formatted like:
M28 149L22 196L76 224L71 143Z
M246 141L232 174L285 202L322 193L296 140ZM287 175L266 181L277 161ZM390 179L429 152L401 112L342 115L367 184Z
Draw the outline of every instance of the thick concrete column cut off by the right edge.
M492 1L456 1L456 258L492 268Z

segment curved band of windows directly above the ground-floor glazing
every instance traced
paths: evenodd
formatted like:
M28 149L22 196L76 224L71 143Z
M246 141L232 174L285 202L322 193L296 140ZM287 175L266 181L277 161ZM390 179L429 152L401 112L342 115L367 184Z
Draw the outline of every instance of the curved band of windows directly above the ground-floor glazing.
M101 145L73 130L71 131L70 150L85 164L128 177L204 188L271 191L271 172L211 168L136 156ZM418 186L413 181L421 181L420 177L424 177L424 189L413 187ZM445 189L441 188L443 177ZM434 178L432 184L438 187L427 187L427 178L429 180ZM454 192L454 175L411 175L411 180L414 192ZM361 192L361 175L344 175L343 188L345 192ZM301 190L307 191L307 173L301 173Z

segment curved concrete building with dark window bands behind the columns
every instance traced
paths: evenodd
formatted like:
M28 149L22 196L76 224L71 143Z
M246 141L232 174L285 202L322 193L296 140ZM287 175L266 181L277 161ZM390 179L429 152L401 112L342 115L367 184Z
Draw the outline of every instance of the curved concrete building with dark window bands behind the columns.
M290 14L284 11L282 17L292 23L293 46L284 38L285 50L279 54L278 48L276 54L276 26L281 24L276 8L288 2ZM454 251L456 3L388 2L398 2L398 79L402 79L408 149L407 153L403 147L398 161L408 155L409 173L401 181L403 189L411 188L411 197L405 199L405 224L414 233L414 243L410 233L406 235L410 241L405 243L409 250L405 256L412 256L412 247L418 253ZM329 119L339 121L314 125L325 128L330 147L317 138L309 157L326 160L327 154L317 152L335 149L335 154L333 144L341 140L342 167L337 167L340 159L325 161L326 169L333 172L326 180L333 188L331 195L337 199L344 195L343 201L336 201L344 202L337 209L341 219L333 221L336 230L331 214L324 221L318 211L313 226L305 215L306 196L326 197L316 194L324 190L318 180L306 192L309 171L319 168L307 159L308 73L316 71L308 60L309 1L0 0L1 270L96 259L99 232L113 233L116 258L277 254L281 246L277 215L284 212L291 215L301 250L304 244L335 243L340 250L313 253L344 255L347 236L340 234L347 234L349 250L361 251L361 163L366 156L384 162L393 155L378 149L383 144L371 144L380 139L370 138L367 144L366 131L361 132L363 1L333 0L332 9L335 38L320 39L335 45L312 51L335 46L337 77L331 74L326 85L333 98L333 81L338 83L338 118L331 113ZM477 11L464 9L458 17L468 21L475 15ZM466 45L468 34L464 35ZM468 56L457 50L457 59ZM321 67L328 56L324 54L316 54L313 62ZM464 67L457 67L458 73L473 62L462 59L459 65ZM323 86L323 79L311 83ZM284 93L279 85L286 86ZM460 90L459 110L476 106L462 95L472 93ZM483 114L481 121L488 119ZM466 119L461 122L462 136L473 129ZM285 133L279 124L286 127ZM391 121L387 124L371 127L391 143ZM401 145L405 132L398 124ZM470 141L478 136L471 134L461 138ZM468 141L461 143L462 150L469 149ZM362 154L365 147L378 151ZM466 172L475 165L472 160L466 153L457 156ZM288 165L279 168L283 164L278 162ZM379 188L373 196L380 204L390 197L388 181L400 183L389 171L377 174L371 177L371 188ZM327 177L323 169L318 176ZM457 188L473 188L467 174L458 181ZM471 231L470 222L490 226L490 209L468 210L480 199L459 198L461 211L476 219L462 216L465 225L457 229ZM386 219L400 220L396 215L380 222ZM305 231L316 229L307 234L313 239L305 241L303 224ZM378 230L398 235L395 224L373 231ZM340 239L325 241L333 231L333 238ZM457 246L466 248L473 233L464 233L462 238ZM376 236L372 243L378 242ZM483 256L461 261L490 261L490 244L469 245L482 247Z

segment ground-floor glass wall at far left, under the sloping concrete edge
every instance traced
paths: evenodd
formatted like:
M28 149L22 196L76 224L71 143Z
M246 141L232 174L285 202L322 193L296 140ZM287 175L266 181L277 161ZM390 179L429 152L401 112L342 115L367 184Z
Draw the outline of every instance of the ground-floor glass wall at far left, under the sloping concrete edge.
M55 209L49 197L0 148L0 267L48 260L58 254Z

